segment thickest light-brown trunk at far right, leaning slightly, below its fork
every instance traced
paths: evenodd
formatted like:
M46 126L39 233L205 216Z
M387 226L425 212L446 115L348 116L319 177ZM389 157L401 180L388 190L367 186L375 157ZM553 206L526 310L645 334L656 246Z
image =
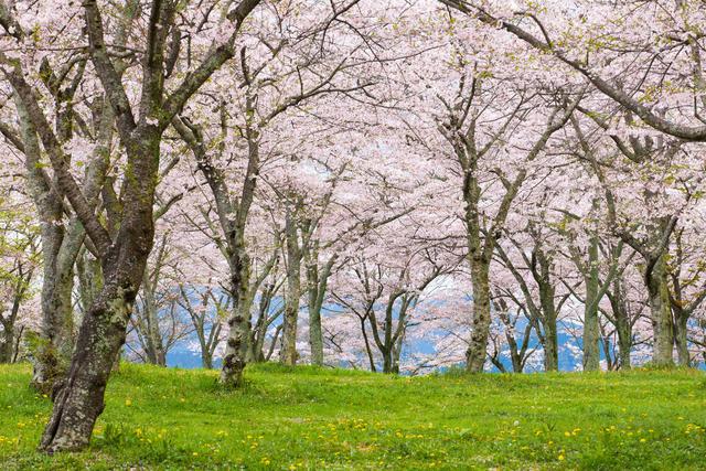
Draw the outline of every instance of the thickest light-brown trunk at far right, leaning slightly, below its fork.
M652 362L656 366L673 366L673 331L670 288L665 255L661 255L644 275L650 297L650 318L653 330Z

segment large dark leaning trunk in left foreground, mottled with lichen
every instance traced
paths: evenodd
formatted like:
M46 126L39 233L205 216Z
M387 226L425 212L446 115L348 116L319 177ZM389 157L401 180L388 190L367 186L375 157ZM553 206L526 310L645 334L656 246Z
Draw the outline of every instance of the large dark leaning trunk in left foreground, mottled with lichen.
M68 374L54 386L54 408L41 441L46 452L84 448L103 411L108 376L125 343L152 249L159 142L154 129L145 128L126 143L133 178L127 179L119 232L111 242L107 233L94 228L94 236L101 244L99 249L104 250L104 287L84 315Z

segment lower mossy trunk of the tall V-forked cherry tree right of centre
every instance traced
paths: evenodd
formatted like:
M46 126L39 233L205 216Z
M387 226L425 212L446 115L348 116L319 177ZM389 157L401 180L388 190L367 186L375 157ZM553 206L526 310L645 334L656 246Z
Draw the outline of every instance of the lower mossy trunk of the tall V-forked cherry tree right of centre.
M483 260L471 261L473 317L471 319L471 340L466 352L466 370L470 373L481 373L485 364L491 321L489 265Z

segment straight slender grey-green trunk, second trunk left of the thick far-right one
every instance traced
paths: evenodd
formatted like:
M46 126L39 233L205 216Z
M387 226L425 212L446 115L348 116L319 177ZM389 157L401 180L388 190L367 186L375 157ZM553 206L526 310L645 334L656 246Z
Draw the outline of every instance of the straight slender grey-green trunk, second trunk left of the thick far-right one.
M598 324L598 239L591 237L588 248L588 276L585 277L586 299L584 302L584 371L600 368L600 327Z

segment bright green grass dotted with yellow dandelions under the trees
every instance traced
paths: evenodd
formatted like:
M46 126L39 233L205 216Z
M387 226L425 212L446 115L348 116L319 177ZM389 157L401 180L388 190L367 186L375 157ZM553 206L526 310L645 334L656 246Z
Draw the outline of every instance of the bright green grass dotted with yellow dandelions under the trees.
M0 469L704 469L694 371L393 377L278 365L126 364L90 448L35 451L51 403L0 366Z

